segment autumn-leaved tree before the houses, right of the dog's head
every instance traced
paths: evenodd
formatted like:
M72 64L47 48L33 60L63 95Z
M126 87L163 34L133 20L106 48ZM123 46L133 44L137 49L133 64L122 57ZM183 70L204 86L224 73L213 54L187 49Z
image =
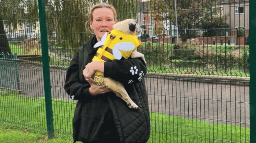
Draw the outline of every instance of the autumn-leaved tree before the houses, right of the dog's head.
M154 20L173 21L176 25L174 0L150 0L148 9ZM177 25L183 42L190 38L190 30L208 23L221 23L227 19L215 0L176 0Z

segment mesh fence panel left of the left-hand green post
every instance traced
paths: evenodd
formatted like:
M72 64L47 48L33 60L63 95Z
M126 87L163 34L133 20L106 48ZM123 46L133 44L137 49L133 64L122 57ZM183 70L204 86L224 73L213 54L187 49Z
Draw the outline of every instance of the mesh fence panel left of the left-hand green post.
M13 66L5 63L0 67L1 70L10 68L15 71L11 74L1 73L0 83L4 83L2 77L8 75L10 79L15 79L16 88L0 88L0 125L46 134L37 1L1 1L0 13L3 19L0 26L0 51L16 53Z

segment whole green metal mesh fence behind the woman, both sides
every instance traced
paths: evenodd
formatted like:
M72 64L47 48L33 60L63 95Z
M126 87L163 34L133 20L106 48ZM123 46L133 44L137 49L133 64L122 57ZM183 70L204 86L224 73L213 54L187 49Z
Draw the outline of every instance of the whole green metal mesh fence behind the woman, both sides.
M45 1L48 90L54 133L62 137L72 135L76 107L63 89L66 70L81 44L93 36L86 22L95 3ZM249 0L108 3L119 21L133 18L142 27L138 38L148 70L148 142L249 142ZM0 8L8 15L0 15L1 43L7 41L17 54L11 68L0 59L0 85L17 87L0 87L0 125L47 133L38 2L0 1Z

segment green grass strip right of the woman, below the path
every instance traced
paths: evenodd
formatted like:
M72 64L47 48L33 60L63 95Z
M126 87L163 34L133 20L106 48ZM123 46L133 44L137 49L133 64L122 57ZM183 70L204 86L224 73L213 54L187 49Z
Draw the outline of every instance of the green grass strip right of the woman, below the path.
M249 143L250 129L151 113L152 143Z

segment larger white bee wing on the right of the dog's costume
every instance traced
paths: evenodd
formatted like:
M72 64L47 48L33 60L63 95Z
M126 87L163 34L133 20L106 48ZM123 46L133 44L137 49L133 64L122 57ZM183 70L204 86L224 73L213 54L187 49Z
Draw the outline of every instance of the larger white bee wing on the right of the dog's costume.
M115 44L113 48L113 55L116 59L120 60L122 58L122 54L119 50L122 51L131 51L135 48L135 45L131 42L122 42Z

